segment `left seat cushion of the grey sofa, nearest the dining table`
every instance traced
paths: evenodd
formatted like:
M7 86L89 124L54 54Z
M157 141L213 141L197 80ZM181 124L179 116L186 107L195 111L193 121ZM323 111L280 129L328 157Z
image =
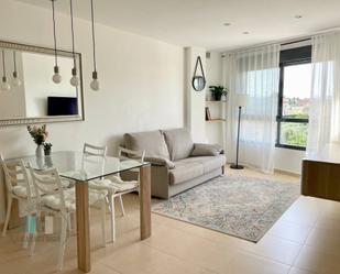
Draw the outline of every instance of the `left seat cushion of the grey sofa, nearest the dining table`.
M179 160L175 168L169 169L169 184L176 185L204 175L204 165L199 162Z

